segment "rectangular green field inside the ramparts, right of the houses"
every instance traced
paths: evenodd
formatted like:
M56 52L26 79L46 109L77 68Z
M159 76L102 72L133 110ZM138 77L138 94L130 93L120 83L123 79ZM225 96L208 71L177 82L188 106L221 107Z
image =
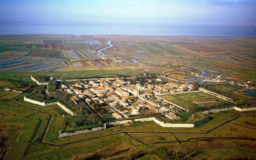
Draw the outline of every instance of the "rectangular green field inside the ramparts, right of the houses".
M174 104L177 104L179 106L182 106L183 108L190 109L193 107L200 107L202 105L207 106L216 106L223 103L228 103L226 100L222 100L218 97L212 96L210 94L207 94L205 92L190 92L190 93L179 93L179 94L167 94L167 95L161 95L160 97L173 102ZM203 104L194 104L193 101L196 100L209 100L209 99L215 99L218 100L218 102L213 103L203 103Z

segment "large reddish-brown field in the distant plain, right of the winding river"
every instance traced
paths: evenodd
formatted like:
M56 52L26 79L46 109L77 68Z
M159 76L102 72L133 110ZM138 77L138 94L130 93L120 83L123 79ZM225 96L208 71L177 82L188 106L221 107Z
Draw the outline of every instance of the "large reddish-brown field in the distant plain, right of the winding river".
M203 46L203 45L198 45L198 44L181 44L178 46L182 47L182 48L187 48L189 50L194 50L197 52L206 52L206 53L218 53L218 52L227 51L227 50L212 47L212 46Z

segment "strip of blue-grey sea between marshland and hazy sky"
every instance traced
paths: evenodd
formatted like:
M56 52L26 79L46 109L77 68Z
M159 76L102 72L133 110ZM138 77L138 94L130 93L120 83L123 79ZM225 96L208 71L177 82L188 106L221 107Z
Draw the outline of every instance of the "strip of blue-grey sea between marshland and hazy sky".
M0 34L256 37L254 25L0 23Z

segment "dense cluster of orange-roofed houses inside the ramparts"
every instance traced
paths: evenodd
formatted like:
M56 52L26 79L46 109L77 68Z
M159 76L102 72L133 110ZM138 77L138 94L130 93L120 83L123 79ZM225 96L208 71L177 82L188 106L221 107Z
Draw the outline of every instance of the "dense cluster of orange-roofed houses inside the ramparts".
M75 104L82 98L91 108L108 106L115 118L141 114L141 110L152 113L169 114L179 112L179 108L162 101L155 95L190 90L189 84L164 82L159 78L148 79L147 83L131 84L129 80L119 78L90 79L76 82L70 86L62 84L58 92L72 94L70 98ZM173 117L173 115L172 115Z

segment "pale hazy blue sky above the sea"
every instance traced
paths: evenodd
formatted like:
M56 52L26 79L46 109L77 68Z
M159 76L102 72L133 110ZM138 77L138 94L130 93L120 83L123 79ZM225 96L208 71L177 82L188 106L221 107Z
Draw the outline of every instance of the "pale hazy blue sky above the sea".
M256 0L0 0L0 23L255 25Z

